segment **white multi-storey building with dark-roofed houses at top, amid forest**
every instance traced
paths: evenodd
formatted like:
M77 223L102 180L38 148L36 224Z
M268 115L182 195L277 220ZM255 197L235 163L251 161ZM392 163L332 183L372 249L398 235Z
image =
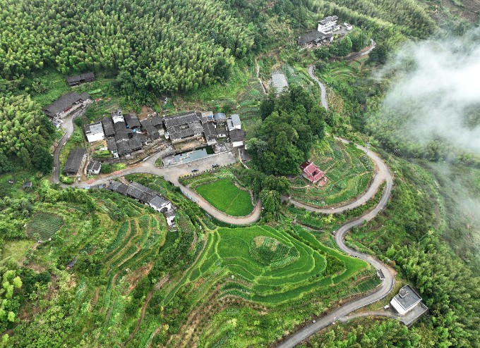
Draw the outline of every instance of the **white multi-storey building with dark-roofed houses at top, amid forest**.
M353 29L349 23L338 24L338 17L336 15L329 15L318 21L316 30L307 32L300 36L296 42L305 48L316 47L322 44L333 42L334 33L345 33Z

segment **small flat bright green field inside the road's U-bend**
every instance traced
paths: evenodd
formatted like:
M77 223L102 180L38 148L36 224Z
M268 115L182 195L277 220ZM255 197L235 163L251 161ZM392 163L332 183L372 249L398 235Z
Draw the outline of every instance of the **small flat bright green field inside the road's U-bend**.
M209 182L196 187L196 191L212 206L231 216L246 216L253 211L250 194L231 180Z

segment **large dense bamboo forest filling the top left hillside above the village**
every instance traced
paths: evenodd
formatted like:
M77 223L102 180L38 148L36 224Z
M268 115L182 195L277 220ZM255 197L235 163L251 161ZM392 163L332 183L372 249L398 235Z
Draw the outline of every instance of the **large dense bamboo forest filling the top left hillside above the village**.
M44 66L119 73L124 92L176 92L228 77L253 35L219 1L11 1L0 10L0 75Z

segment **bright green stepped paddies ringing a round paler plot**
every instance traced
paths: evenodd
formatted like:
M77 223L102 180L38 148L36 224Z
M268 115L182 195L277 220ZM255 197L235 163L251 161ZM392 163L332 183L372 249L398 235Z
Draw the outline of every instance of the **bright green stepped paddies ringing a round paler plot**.
M327 260L344 267L329 272ZM268 226L220 228L193 266L189 281L224 274L229 281L220 297L275 305L335 285L365 268L364 261L325 247L301 228L295 234Z

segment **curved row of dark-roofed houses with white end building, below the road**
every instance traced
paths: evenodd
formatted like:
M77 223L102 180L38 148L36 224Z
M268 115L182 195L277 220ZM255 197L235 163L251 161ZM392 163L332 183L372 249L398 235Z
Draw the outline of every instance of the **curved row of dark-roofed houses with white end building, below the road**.
M160 193L155 191L155 189L150 189L135 181L126 185L123 182L115 180L110 181L109 185L105 188L123 194L126 197L131 197L150 206L152 209L155 209L155 211L158 211L165 216L167 225L170 229L175 227L175 207L170 201L164 199Z

